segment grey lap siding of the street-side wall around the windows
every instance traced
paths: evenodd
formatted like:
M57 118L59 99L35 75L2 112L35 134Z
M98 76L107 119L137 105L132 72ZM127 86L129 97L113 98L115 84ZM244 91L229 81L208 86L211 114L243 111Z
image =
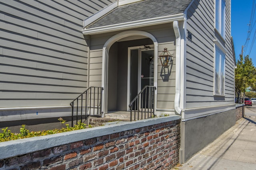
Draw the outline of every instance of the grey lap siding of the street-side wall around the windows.
M226 1L225 97L214 96L214 0L195 0L187 12L186 108L232 104L234 99L234 61L230 41L230 2Z

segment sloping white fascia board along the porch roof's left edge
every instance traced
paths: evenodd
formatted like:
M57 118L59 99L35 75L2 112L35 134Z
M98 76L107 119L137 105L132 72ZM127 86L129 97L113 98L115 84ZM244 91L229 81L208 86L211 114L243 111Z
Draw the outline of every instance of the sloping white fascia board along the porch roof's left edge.
M97 12L96 14L86 18L86 20L84 20L84 27L90 25L91 23L93 23L94 21L98 20L102 16L108 14L108 12L114 10L114 8L116 8L117 6L118 6L118 3L116 1L116 2L114 2L112 4L110 4L109 6L107 6L106 8L103 8L102 10Z

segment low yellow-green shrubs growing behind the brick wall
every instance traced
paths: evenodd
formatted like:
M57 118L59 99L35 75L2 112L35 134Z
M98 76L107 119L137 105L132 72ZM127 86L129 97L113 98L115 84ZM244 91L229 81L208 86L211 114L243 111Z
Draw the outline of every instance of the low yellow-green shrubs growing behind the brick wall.
M63 119L60 119L60 122L63 124L66 121L64 121ZM88 127L92 127L92 126L89 125ZM74 127L70 127L69 124L66 124L66 128L62 127L62 129L53 129L53 130L38 131L38 132L34 132L34 131L30 132L28 129L26 129L26 125L22 125L22 127L20 128L20 133L11 133L10 130L7 130L8 127L6 127L5 129L2 129L2 133L0 133L0 142L12 141L16 139L23 139L23 138L29 138L29 137L45 136L45 135L75 131L75 130L85 129L85 128L87 128L86 124L81 122L77 123L77 125L75 125Z

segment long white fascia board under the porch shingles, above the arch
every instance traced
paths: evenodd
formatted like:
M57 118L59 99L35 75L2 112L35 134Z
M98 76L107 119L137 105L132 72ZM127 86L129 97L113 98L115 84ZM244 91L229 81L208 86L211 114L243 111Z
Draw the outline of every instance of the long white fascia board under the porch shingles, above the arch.
M102 27L83 29L82 33L84 35L94 35L98 33L107 33L112 31L128 29L128 28L136 28L136 27L157 25L162 23L170 23L172 21L184 21L184 20L185 20L185 14L182 13L182 14L176 14L171 16L150 18L147 20L139 20L139 21L132 21L132 22L115 24L115 25L107 25Z

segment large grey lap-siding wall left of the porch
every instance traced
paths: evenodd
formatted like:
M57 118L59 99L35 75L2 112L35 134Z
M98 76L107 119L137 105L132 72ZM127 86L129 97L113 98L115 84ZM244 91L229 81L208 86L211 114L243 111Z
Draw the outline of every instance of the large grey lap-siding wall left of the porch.
M112 2L1 1L0 107L67 106L84 92L83 20Z

